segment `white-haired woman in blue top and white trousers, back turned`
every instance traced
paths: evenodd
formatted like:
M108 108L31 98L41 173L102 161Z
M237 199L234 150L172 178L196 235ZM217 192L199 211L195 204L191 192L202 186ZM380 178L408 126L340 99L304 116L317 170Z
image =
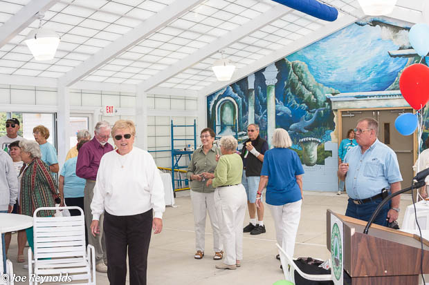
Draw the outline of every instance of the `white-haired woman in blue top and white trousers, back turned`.
M256 206L259 207L262 190L266 187L265 202L274 219L277 243L293 257L301 217L304 169L298 154L289 148L292 141L286 130L274 130L273 146L264 156Z

